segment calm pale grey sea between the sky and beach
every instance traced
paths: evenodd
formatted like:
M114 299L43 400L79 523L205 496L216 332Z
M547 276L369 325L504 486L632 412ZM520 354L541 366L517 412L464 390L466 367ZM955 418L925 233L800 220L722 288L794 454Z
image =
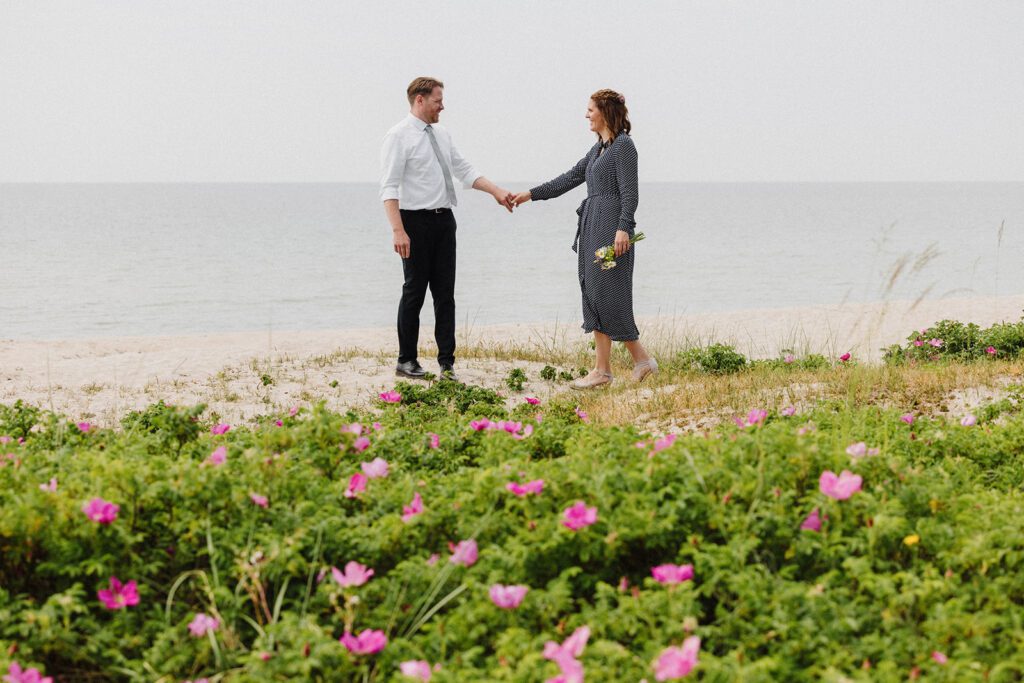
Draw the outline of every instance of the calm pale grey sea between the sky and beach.
M575 325L583 189L460 197L460 327ZM1024 183L642 184L637 219L640 315L1024 292ZM0 338L391 326L400 283L371 183L0 184Z

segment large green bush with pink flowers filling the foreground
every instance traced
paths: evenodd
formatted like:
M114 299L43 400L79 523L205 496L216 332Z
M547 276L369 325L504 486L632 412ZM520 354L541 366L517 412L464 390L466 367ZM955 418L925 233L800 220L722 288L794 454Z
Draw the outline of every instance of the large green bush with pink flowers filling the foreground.
M1021 680L1016 403L995 422L752 408L677 438L452 382L252 428L0 407L0 667Z

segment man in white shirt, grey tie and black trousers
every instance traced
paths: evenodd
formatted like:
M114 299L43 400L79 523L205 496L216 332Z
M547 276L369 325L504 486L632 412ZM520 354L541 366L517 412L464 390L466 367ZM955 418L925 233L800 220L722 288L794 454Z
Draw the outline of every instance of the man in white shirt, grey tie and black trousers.
M409 84L410 113L384 136L381 150L381 200L391 224L394 252L401 257L406 283L398 303L398 365L395 375L421 379L417 358L420 309L427 288L434 300L434 339L442 378L455 375L455 215L453 178L492 195L509 212L512 193L476 172L437 126L444 111L444 84L418 78Z

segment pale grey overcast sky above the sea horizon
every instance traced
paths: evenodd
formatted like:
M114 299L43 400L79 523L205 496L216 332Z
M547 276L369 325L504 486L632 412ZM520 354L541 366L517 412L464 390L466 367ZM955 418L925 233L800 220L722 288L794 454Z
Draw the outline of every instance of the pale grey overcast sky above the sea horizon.
M601 87L644 181L1024 180L1019 0L0 0L0 181L374 181L419 75L496 180Z

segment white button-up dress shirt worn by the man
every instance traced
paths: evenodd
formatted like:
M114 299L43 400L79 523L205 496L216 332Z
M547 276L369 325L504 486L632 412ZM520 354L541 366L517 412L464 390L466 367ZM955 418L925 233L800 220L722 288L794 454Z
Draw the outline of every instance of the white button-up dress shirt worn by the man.
M451 209L444 175L426 133L427 124L412 114L384 136L381 147L381 201L398 200L398 208ZM452 177L473 186L480 173L452 144L452 135L437 124L430 129ZM455 202L458 204L458 201Z

